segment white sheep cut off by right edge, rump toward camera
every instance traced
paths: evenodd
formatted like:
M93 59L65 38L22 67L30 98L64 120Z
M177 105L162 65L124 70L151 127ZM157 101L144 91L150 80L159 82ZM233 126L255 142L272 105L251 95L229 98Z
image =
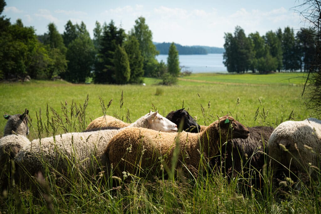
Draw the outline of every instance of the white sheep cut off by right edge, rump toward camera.
M286 121L277 126L268 144L273 173L284 169L311 174L320 173L321 120ZM289 174L289 171L288 173Z

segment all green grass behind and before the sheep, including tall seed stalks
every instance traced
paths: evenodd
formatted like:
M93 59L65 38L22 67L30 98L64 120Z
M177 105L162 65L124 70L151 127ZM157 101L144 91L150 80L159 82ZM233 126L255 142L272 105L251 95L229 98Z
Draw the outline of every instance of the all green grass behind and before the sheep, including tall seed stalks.
M305 110L301 89L293 85L211 85L195 84L163 87L72 85L37 82L30 84L1 84L1 109L19 113L30 110L30 139L82 131L91 119L104 114L131 122L149 109L167 112L188 108L201 125L209 125L217 115L229 113L245 125L277 126L286 120L301 120L315 116ZM39 90L41 88L41 90ZM155 96L157 89L162 93ZM21 91L18 97L17 91ZM47 94L52 94L48 96ZM10 97L10 99L5 99ZM119 98L120 97L120 98ZM98 99L97 99L98 98ZM110 100L107 107L105 100ZM113 100L119 99L117 102ZM115 104L116 103L116 104ZM126 109L127 111L124 111ZM6 121L0 120L1 127ZM223 142L223 141L222 141ZM223 142L224 143L224 142ZM178 150L176 150L177 152ZM67 175L48 165L39 156L42 173L22 179L32 185L21 188L19 180L11 181L11 189L0 195L1 213L319 213L321 176L305 179L301 190L289 176L276 181L268 167L260 173L263 189L249 187L244 191L246 176L238 174L230 182L222 171L212 172L212 166L202 158L207 173L192 172L183 178L175 169L177 153L171 167L164 166L160 177L146 169L149 176L126 174L127 181L109 172L77 168L68 162ZM63 154L62 154L63 155ZM237 154L234 154L237 155ZM95 159L90 157L92 165ZM141 154L137 158L143 158ZM249 157L250 158L250 157ZM159 163L162 163L161 161ZM102 166L101 166L102 167ZM160 167L160 166L159 166ZM4 169L0 169L4 170ZM28 169L26 169L28 170ZM113 171L114 169L109 169ZM244 171L248 169L244 168ZM13 167L13 173L18 173ZM168 177L168 178L167 178ZM281 183L281 185L279 185ZM117 185L115 185L117 184Z

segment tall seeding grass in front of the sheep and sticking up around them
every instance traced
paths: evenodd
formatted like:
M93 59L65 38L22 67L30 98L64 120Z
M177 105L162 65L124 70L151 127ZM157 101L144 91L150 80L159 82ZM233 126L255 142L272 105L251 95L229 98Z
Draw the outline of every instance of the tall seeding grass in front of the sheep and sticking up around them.
M121 95L120 105L124 99ZM254 119L268 125L267 117L271 115L261 100L257 102ZM241 100L237 99L233 111L229 113L234 116L240 103ZM61 103L60 111L47 107L45 116L39 110L36 113L37 121L33 121L37 126L31 129L33 135L42 138L54 136L58 129L63 132L85 129L83 121L87 104L88 96L83 104ZM100 106L101 112L108 114L103 99L100 99ZM50 111L51 117L48 116ZM200 102L200 111L204 124L215 120L210 102L205 108ZM291 119L291 115L287 119ZM164 170L169 175L168 179L164 174L159 178L148 176L150 179L147 179L145 175L136 173L126 174L129 180L125 183L111 175L106 177L104 172L94 175L82 172L72 160L66 176L53 171L40 156L43 174L23 178L24 181L30 179L33 184L26 189L20 189L18 181L12 181L14 188L2 192L0 210L2 213L319 213L320 176L317 176L317 180L302 183L301 190L297 191L292 188L293 181L289 178L283 181L286 188L276 185L272 172L267 170L261 174L265 183L262 190L250 187L250 191L244 192L243 182L240 182L246 179L244 175L239 174L228 182L222 172L211 172L211 166L205 158L202 158L200 165L206 168L206 174L195 176L190 173L185 175L187 179L182 179L177 176L179 172L175 169L177 153L178 149L174 151L172 167ZM138 154L138 158L142 158L142 154ZM145 171L147 174L153 173L148 169ZM115 186L116 180L118 185Z

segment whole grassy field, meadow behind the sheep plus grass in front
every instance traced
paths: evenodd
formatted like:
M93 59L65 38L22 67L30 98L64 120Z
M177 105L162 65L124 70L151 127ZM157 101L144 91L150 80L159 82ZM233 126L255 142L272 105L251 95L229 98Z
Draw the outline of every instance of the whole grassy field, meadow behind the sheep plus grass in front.
M166 116L169 111L183 106L200 125L208 125L216 120L217 115L230 113L247 126L276 127L288 119L320 119L319 112L306 109L307 101L301 96L305 81L303 75L192 74L180 78L174 86L158 85L161 80L153 78L145 78L146 86L75 85L35 80L1 83L0 110L16 114L27 108L32 119L30 139L39 136L37 122L40 109L45 123L47 105L50 120L55 111L63 119L64 114L70 116L73 103L76 103L78 109L85 110L82 115L84 123L68 127L68 131L79 131L92 119L103 115L99 97L105 106L113 99L106 114L119 116L124 121L127 112L133 122L149 110L157 109ZM84 105L87 95L88 104ZM76 112L73 114L72 119L77 124ZM6 120L0 120L1 132L5 123ZM57 134L63 132L60 128ZM42 136L50 136L50 133ZM77 175L64 179L70 182L68 191L56 186L54 181L46 180L48 189L40 200L35 200L30 190L2 194L0 213L319 213L321 206L319 182L311 182L301 191L266 185L262 192L253 189L243 194L237 179L228 183L219 174L206 174L186 182L150 181L133 176L132 182L117 188L101 183L99 179L91 181ZM264 180L271 184L268 173Z

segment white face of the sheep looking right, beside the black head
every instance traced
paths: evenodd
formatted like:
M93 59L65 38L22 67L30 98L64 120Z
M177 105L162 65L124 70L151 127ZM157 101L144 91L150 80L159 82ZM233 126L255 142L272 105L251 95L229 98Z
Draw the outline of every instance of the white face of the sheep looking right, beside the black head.
M150 125L150 129L163 131L163 132L176 132L177 125L165 117L161 116L158 111L155 113L149 113L147 116L147 121Z

